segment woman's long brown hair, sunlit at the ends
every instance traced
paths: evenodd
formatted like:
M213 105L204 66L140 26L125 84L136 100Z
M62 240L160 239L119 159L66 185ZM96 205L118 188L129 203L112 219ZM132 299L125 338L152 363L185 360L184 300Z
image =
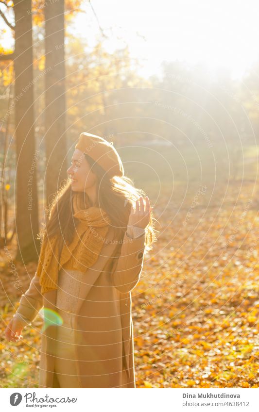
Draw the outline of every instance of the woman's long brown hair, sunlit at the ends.
M122 240L127 229L131 206L136 204L139 196L145 197L142 189L134 187L133 181L126 176L114 176L110 178L105 173L102 166L96 163L90 156L85 154L86 161L91 167L91 171L96 175L96 204L92 204L86 193L79 196L85 201L86 208L96 206L102 208L111 219L111 225L118 233L117 240ZM76 192L77 195L79 192ZM71 180L66 179L61 188L54 195L49 207L46 208L48 218L47 224L38 234L38 239L43 242L45 236L48 238L58 234L60 236L60 247L65 243L70 243L75 230L73 217L73 197L75 192L71 189ZM150 221L145 229L145 250L152 249L155 242L155 218L151 212Z

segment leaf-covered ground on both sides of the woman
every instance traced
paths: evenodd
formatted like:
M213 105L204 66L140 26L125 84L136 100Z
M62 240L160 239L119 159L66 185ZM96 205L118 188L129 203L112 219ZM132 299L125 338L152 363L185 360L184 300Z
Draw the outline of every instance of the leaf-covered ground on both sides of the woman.
M191 203L195 191L183 205L168 195L155 205L158 240L132 293L137 387L259 387L258 203L251 188L238 192L213 193L208 207L208 193ZM2 258L0 385L37 387L41 319L23 341L3 339L36 264L16 264L16 289Z

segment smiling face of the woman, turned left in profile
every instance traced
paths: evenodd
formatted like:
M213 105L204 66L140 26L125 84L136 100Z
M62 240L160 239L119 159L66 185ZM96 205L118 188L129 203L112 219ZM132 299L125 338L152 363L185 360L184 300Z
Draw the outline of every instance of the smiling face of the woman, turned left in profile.
M90 170L85 154L78 149L74 151L67 174L72 179L72 190L75 192L87 193L87 189L91 188L96 181L96 176Z

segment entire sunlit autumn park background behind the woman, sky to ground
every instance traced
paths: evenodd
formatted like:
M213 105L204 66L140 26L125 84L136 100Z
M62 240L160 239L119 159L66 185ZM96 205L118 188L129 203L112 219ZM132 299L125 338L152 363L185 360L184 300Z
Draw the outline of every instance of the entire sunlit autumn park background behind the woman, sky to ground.
M137 386L258 387L258 13L252 0L0 1L3 328L90 132L155 208L134 289ZM2 387L36 387L40 325L0 344Z

